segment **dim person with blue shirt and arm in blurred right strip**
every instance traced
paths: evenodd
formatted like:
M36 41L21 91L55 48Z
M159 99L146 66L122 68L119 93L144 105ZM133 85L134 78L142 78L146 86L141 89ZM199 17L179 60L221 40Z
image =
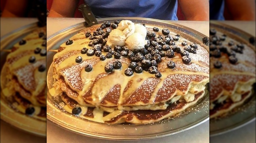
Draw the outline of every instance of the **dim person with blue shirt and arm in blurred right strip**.
M210 20L255 20L255 0L210 0Z

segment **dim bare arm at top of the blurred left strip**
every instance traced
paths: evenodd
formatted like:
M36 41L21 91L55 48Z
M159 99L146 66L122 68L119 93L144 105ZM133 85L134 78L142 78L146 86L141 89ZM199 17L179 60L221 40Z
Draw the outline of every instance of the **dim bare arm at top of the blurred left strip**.
M18 3L17 0L6 1L2 17L24 17L27 4L27 0L20 0Z

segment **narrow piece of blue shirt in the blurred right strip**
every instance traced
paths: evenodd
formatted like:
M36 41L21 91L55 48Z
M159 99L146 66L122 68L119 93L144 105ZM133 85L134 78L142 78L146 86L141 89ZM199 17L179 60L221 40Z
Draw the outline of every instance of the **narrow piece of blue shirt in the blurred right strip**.
M210 20L225 20L224 0L210 0Z

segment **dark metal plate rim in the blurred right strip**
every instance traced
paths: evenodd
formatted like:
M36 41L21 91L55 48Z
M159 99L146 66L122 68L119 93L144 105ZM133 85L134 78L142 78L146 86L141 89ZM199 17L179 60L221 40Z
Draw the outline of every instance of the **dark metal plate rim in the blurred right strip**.
M210 28L215 28L217 31L223 32L227 36L248 45L250 45L249 38L254 37L240 29L216 21L210 21ZM255 45L251 46L251 48L255 51ZM251 95L252 97L244 105L237 108L238 111L231 112L230 115L221 119L210 119L210 136L221 135L236 130L254 121L255 88Z

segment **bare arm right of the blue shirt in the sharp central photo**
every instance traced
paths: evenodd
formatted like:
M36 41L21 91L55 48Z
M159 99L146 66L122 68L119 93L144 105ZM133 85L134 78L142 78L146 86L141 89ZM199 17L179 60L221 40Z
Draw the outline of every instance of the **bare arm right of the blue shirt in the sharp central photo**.
M186 20L209 21L209 0L178 0Z

